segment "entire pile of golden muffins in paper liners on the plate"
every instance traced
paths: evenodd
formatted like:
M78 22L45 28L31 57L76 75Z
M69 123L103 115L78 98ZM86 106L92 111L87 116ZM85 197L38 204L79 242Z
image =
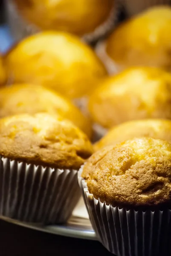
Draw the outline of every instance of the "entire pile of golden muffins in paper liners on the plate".
M111 253L171 253L171 7L10 2L43 32L0 61L0 214L63 223L82 192Z

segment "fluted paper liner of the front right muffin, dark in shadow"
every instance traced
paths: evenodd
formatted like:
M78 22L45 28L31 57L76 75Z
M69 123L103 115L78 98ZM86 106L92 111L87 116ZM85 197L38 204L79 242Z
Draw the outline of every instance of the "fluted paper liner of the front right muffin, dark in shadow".
M96 200L78 172L84 202L99 241L118 256L171 255L171 210L125 209Z

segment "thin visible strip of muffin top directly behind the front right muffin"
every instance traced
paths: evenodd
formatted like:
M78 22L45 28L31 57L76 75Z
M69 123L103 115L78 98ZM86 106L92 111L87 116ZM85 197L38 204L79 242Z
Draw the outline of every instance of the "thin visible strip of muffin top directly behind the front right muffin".
M135 137L151 137L171 143L171 120L144 119L116 125L94 145L94 150L97 151L108 145L116 145Z

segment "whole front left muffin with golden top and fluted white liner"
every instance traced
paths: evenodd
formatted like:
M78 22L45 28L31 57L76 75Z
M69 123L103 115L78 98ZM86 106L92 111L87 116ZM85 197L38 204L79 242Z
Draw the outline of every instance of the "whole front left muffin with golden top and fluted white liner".
M92 154L72 122L48 113L0 119L0 214L63 223L80 197L77 171Z

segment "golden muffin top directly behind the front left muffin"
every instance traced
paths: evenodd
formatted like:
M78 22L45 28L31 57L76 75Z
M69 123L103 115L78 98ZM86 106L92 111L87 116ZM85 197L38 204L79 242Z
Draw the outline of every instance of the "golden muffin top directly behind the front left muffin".
M32 84L13 84L0 88L0 117L40 112L59 114L91 137L90 120L69 99L57 92Z

